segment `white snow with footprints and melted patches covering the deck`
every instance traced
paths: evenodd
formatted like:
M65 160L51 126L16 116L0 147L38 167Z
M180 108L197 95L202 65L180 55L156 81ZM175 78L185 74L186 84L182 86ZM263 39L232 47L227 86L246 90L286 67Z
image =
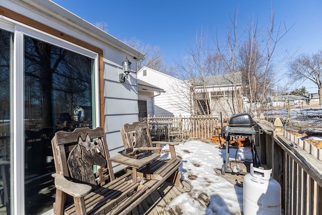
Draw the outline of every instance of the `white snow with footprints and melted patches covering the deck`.
M164 146L163 150L167 150L167 147ZM229 160L235 159L235 152L236 149L229 149ZM188 180L192 188L190 192L173 199L168 207L178 205L184 215L230 215L243 210L243 188L231 184L214 171L215 168L221 169L225 150L199 140L192 140L176 146L176 153L182 159L180 167L183 173L182 179ZM170 158L170 155L167 153L162 157ZM251 150L239 149L236 159L252 162ZM209 206L200 201L205 196L210 199Z

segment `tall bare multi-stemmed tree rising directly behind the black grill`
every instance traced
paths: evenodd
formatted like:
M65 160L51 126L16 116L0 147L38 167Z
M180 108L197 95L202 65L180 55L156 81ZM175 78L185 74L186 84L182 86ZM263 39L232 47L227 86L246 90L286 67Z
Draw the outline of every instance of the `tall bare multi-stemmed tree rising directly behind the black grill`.
M266 94L271 91L275 75L274 54L289 29L282 24L274 23L272 9L269 25L264 24L260 27L258 21L251 17L246 29L237 34L236 12L227 30L226 44L221 46L217 35L214 39L217 52L224 59L229 73L234 75L237 71L241 71L243 74L243 93L244 97L248 98L251 113L253 107L254 111L257 111L256 103L262 103ZM235 94L238 94L237 88ZM239 98L241 97L236 97L237 100ZM242 110L243 101L238 100L237 111Z

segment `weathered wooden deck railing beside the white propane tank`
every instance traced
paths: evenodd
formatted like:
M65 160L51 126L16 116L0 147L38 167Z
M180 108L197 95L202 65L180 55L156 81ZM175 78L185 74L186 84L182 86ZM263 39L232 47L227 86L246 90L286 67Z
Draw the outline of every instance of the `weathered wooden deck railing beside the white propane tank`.
M261 164L282 187L285 214L322 214L322 151L286 132L279 118L260 117L256 142Z

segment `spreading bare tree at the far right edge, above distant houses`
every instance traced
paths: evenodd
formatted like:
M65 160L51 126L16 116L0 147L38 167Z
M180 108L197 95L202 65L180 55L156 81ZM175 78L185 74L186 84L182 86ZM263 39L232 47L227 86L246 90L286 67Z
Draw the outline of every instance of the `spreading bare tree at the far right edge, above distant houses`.
M318 89L319 104L322 104L322 49L316 53L303 54L289 64L288 75L294 81L308 79Z

